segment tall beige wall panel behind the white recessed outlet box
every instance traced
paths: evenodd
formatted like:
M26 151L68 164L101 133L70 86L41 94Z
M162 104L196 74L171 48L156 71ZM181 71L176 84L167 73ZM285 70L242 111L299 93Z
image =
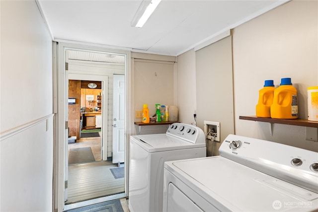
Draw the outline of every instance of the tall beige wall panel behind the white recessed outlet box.
M197 126L220 122L220 141L234 134L232 37L195 53ZM203 129L204 130L204 129ZM207 141L207 155L218 155L221 142Z

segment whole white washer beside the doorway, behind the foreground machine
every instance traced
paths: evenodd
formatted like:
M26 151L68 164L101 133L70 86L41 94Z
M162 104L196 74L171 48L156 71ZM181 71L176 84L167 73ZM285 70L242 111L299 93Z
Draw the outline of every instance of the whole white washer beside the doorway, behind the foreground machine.
M129 210L162 212L165 161L206 156L203 131L174 123L165 134L130 137Z

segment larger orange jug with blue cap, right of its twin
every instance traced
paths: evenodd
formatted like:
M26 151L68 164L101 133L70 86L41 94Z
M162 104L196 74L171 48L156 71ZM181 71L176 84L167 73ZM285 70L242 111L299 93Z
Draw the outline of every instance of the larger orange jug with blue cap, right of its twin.
M274 90L270 116L274 119L297 119L297 89L292 85L291 78L282 78L280 86Z

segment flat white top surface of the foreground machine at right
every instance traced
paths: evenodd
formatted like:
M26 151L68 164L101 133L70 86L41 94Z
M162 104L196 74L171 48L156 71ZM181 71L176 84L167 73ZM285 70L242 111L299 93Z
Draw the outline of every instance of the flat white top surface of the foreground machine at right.
M220 211L317 210L318 194L222 156L164 165Z

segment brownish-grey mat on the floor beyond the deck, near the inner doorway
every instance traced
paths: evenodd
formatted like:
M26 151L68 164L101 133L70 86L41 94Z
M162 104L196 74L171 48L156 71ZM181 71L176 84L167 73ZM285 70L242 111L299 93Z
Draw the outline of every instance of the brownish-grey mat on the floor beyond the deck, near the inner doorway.
M95 158L90 147L70 149L69 165L89 162L95 162Z

